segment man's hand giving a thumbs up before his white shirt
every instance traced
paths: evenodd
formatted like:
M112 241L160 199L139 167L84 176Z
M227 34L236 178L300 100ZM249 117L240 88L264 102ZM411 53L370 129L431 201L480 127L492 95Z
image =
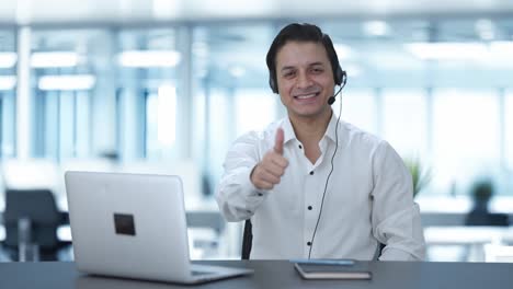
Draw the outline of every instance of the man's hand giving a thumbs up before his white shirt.
M274 148L265 153L262 161L251 172L251 183L259 189L272 189L280 184L282 175L288 165L283 157L284 132L282 128L276 130Z

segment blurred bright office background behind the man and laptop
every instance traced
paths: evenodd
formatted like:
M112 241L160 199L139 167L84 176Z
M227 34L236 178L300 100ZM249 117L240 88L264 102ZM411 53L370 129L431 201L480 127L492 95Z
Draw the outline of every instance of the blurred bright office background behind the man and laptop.
M285 116L264 58L289 22L316 23L333 39L349 74L334 105L342 101L342 119L388 140L420 172L429 259L508 255L508 0L2 1L0 210L8 193L48 189L66 211L66 170L179 174L193 257L239 258L242 224L224 223L213 194L230 143ZM492 218L472 223L482 195ZM16 256L8 228L3 259ZM66 222L58 233L69 241Z

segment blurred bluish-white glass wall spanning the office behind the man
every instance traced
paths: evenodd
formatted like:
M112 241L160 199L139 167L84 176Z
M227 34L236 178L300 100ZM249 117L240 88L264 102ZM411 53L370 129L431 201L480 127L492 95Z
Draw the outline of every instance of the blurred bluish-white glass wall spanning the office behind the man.
M428 163L433 180L426 193L465 195L483 172L511 178L511 19L307 22L330 34L347 71L335 113L340 101L342 119ZM286 115L265 66L285 23L36 25L33 155L192 160L210 194L232 141ZM15 32L0 32L2 157L15 155L14 39ZM501 194L511 194L502 183Z

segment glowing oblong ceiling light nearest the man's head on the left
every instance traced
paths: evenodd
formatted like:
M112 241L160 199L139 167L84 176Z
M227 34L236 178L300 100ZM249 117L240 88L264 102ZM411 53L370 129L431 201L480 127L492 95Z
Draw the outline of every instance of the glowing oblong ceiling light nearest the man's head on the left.
M127 50L118 55L123 67L175 67L181 55L175 50Z

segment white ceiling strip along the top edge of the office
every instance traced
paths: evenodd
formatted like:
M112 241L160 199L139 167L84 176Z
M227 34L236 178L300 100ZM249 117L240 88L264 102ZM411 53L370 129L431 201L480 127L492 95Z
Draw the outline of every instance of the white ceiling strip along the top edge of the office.
M0 23L508 14L511 0L2 0Z

